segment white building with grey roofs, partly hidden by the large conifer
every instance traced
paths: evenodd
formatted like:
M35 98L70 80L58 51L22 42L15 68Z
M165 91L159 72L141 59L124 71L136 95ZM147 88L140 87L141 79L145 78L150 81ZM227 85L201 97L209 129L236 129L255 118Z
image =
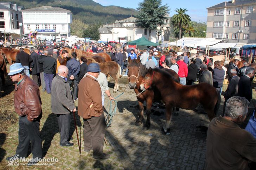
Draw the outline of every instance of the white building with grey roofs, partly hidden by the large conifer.
M123 20L117 20L115 23L103 25L103 27L99 28L100 36L102 41L119 41L119 38L121 40L126 41L134 41L142 36L145 36L146 39L149 39L149 30L146 28L141 28L136 26L136 18L131 16L130 18L126 18ZM169 38L169 34L165 36L169 32L169 18L164 21L165 25L161 26L167 27L167 30L161 31L161 34L159 36L159 40L161 38ZM156 30L151 30L151 41L152 42L158 42L158 36ZM168 42L168 40L167 40Z

